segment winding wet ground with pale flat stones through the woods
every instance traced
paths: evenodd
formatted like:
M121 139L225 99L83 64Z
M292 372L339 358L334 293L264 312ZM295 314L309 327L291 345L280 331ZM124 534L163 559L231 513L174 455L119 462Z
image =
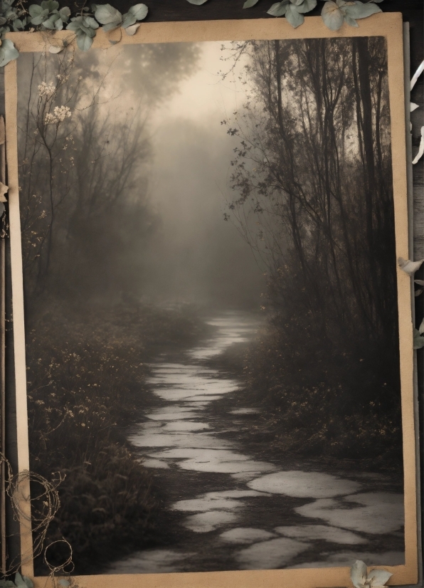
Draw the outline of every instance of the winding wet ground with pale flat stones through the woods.
M403 564L403 495L390 476L329 471L264 448L259 455L240 441L260 415L231 406L238 380L205 360L253 337L259 323L235 313L209 322L207 342L152 366L157 405L129 435L154 471L173 539L107 572ZM217 411L224 397L227 409Z

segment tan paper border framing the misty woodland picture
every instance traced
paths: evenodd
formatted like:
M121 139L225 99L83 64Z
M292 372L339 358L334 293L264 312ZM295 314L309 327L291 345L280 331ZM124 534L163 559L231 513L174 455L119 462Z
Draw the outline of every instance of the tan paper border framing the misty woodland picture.
M93 48L110 49L110 40L122 31L104 33L99 29ZM339 38L384 36L388 46L388 87L391 112L391 149L395 206L396 257L408 258L408 203L406 183L406 129L403 89L403 29L401 13L375 14L360 21L359 28L344 24L329 31L319 16L307 17L300 28L285 19L239 21L197 21L142 23L134 36L122 34L121 43L166 43L179 41L243 41L247 39ZM8 33L19 51L46 51L50 45L73 42L70 31L57 33ZM116 46L115 46L116 47ZM25 331L23 323L23 278L18 202L17 157L17 68L16 61L5 68L6 142L9 176L11 226L12 296L14 309L14 354L18 427L18 468L27 470L28 420L26 409ZM396 263L393 260L393 263ZM405 493L406 564L385 567L393 576L389 585L418 582L418 552L415 492L415 431L413 410L413 325L410 278L397 268L398 315L401 351L401 394ZM26 530L21 521L21 531ZM21 535L23 556L31 550L28 531ZM33 576L32 561L23 557L22 572ZM370 562L372 564L372 562ZM80 588L334 588L351 586L348 567L319 569L269 569L237 572L178 572L173 574L119 574L75 577ZM45 577L36 577L36 588L51 587Z

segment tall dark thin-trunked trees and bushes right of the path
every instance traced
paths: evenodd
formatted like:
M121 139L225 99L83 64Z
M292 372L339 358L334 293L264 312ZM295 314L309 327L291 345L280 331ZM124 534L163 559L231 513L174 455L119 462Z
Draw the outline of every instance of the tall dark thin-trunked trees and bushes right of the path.
M361 458L396 448L401 460L381 43L233 46L247 53L252 90L236 118L223 121L240 137L226 219L267 268L270 322L246 358L247 389L270 407L265 429L275 443L305 454Z

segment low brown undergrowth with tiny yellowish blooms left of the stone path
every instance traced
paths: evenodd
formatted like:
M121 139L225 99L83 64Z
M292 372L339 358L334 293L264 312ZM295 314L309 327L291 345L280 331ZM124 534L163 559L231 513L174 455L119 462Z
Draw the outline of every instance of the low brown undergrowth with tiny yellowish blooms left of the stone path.
M191 342L200 332L184 310L95 305L82 312L53 300L38 309L27 333L31 469L65 478L48 541L70 542L77 573L154 539L153 478L123 431L146 407L157 345ZM63 561L62 549L50 548L52 564ZM36 566L46 572L41 561Z

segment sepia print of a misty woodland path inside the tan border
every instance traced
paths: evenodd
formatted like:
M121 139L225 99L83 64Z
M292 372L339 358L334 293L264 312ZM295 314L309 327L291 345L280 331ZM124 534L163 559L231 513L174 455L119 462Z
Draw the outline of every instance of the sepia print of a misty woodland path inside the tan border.
M46 545L78 575L405 565L387 37L16 68Z

